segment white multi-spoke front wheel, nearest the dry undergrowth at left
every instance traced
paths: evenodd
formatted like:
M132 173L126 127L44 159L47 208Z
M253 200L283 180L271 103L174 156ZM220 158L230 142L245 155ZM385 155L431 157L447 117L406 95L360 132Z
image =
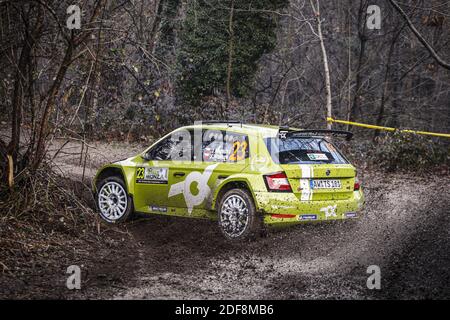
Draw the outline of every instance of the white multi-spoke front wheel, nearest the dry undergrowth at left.
M100 182L96 202L100 216L109 223L126 221L133 212L133 200L119 177L108 177Z

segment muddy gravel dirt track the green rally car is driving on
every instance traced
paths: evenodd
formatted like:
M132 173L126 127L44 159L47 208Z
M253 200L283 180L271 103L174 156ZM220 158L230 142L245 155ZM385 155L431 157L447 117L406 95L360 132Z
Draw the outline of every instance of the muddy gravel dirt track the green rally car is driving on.
M87 161L87 178L100 163L140 150L95 147ZM65 174L80 178L78 160L58 161L65 164ZM266 238L240 245L224 241L209 221L132 221L122 228L137 245L125 246L120 259L108 257L104 267L87 270L90 280L104 279L101 286L90 281L67 297L449 299L449 177L375 172L361 178L367 198L362 219L274 230ZM381 290L366 287L369 265L381 268Z

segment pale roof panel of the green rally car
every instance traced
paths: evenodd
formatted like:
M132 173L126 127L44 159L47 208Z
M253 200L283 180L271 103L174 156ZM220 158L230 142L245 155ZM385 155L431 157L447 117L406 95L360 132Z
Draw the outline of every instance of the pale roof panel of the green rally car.
M208 129L208 130L227 130L235 133L243 134L261 134L264 137L274 137L280 130L279 126L264 124L247 124L247 123L204 123L191 126L181 127L180 129Z

